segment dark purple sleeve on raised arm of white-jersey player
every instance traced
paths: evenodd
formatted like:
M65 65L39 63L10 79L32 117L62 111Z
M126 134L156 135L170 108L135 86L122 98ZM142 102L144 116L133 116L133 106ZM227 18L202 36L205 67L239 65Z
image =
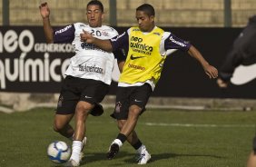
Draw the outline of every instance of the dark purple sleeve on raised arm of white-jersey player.
M74 25L67 25L63 28L54 30L54 43L66 44L74 41Z

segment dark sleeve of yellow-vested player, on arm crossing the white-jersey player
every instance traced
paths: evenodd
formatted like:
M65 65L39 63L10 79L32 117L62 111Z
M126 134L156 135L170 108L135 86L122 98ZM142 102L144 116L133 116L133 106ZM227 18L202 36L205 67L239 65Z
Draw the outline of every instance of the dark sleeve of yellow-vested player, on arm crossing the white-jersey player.
M127 32L123 34L117 35L110 40L113 51L116 51L120 48L128 47L129 46L129 36Z

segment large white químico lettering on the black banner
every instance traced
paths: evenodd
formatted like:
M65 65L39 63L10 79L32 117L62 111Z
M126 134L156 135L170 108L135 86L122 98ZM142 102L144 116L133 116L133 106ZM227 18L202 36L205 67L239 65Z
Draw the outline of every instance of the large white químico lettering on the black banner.
M60 58L49 61L50 55L44 54L43 59L25 59L26 54L22 53L19 58L0 60L0 88L6 88L6 80L19 82L61 82L69 59L62 63ZM13 61L13 63L12 63ZM56 68L61 67L61 74L56 73ZM13 73L12 73L13 72ZM37 78L39 76L39 78Z

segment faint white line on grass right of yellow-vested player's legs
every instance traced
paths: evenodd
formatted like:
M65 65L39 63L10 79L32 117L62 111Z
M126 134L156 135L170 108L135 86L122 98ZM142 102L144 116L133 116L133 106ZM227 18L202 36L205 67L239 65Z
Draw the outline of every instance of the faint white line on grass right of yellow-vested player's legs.
M205 128L255 128L255 124L192 124L192 123L145 123L148 126L205 127Z

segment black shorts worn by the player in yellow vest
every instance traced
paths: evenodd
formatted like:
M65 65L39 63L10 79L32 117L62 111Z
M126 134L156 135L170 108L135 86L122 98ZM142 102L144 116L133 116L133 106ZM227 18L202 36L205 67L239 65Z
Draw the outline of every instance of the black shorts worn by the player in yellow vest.
M142 86L118 87L115 108L111 116L117 120L127 120L129 107L133 104L142 108L144 112L151 93L152 87L148 83Z

